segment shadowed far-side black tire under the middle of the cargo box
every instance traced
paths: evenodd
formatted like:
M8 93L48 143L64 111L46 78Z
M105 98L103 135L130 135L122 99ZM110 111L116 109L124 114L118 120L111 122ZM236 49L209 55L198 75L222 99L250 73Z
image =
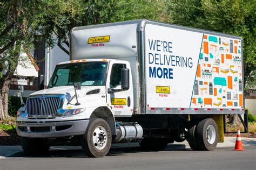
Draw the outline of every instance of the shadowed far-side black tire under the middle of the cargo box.
M145 138L139 143L142 150L146 151L163 151L168 145L166 138Z

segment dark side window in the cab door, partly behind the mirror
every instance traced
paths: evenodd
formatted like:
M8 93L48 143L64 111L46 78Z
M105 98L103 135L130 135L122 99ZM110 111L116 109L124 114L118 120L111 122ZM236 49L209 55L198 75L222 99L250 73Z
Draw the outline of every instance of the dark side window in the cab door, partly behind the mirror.
M116 88L121 85L121 70L126 68L125 64L113 64L110 74L110 87Z

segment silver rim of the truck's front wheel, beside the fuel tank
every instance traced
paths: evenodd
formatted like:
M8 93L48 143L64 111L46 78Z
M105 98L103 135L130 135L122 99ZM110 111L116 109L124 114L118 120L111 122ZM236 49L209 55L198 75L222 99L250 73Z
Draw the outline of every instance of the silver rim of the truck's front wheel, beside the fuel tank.
M92 133L93 145L98 150L103 150L107 143L107 133L105 128L98 126Z

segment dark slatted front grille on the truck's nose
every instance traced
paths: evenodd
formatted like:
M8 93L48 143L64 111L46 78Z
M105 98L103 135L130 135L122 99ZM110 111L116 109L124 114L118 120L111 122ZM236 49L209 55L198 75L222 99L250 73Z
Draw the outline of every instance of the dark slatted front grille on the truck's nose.
M31 97L26 100L28 116L55 115L60 105L60 97L41 96Z

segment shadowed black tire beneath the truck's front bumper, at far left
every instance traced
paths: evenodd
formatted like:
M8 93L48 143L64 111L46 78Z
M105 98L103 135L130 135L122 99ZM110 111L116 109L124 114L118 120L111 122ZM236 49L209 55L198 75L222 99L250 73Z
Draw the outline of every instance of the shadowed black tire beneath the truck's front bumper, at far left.
M50 149L48 141L44 138L22 137L21 144L26 155L46 154Z

